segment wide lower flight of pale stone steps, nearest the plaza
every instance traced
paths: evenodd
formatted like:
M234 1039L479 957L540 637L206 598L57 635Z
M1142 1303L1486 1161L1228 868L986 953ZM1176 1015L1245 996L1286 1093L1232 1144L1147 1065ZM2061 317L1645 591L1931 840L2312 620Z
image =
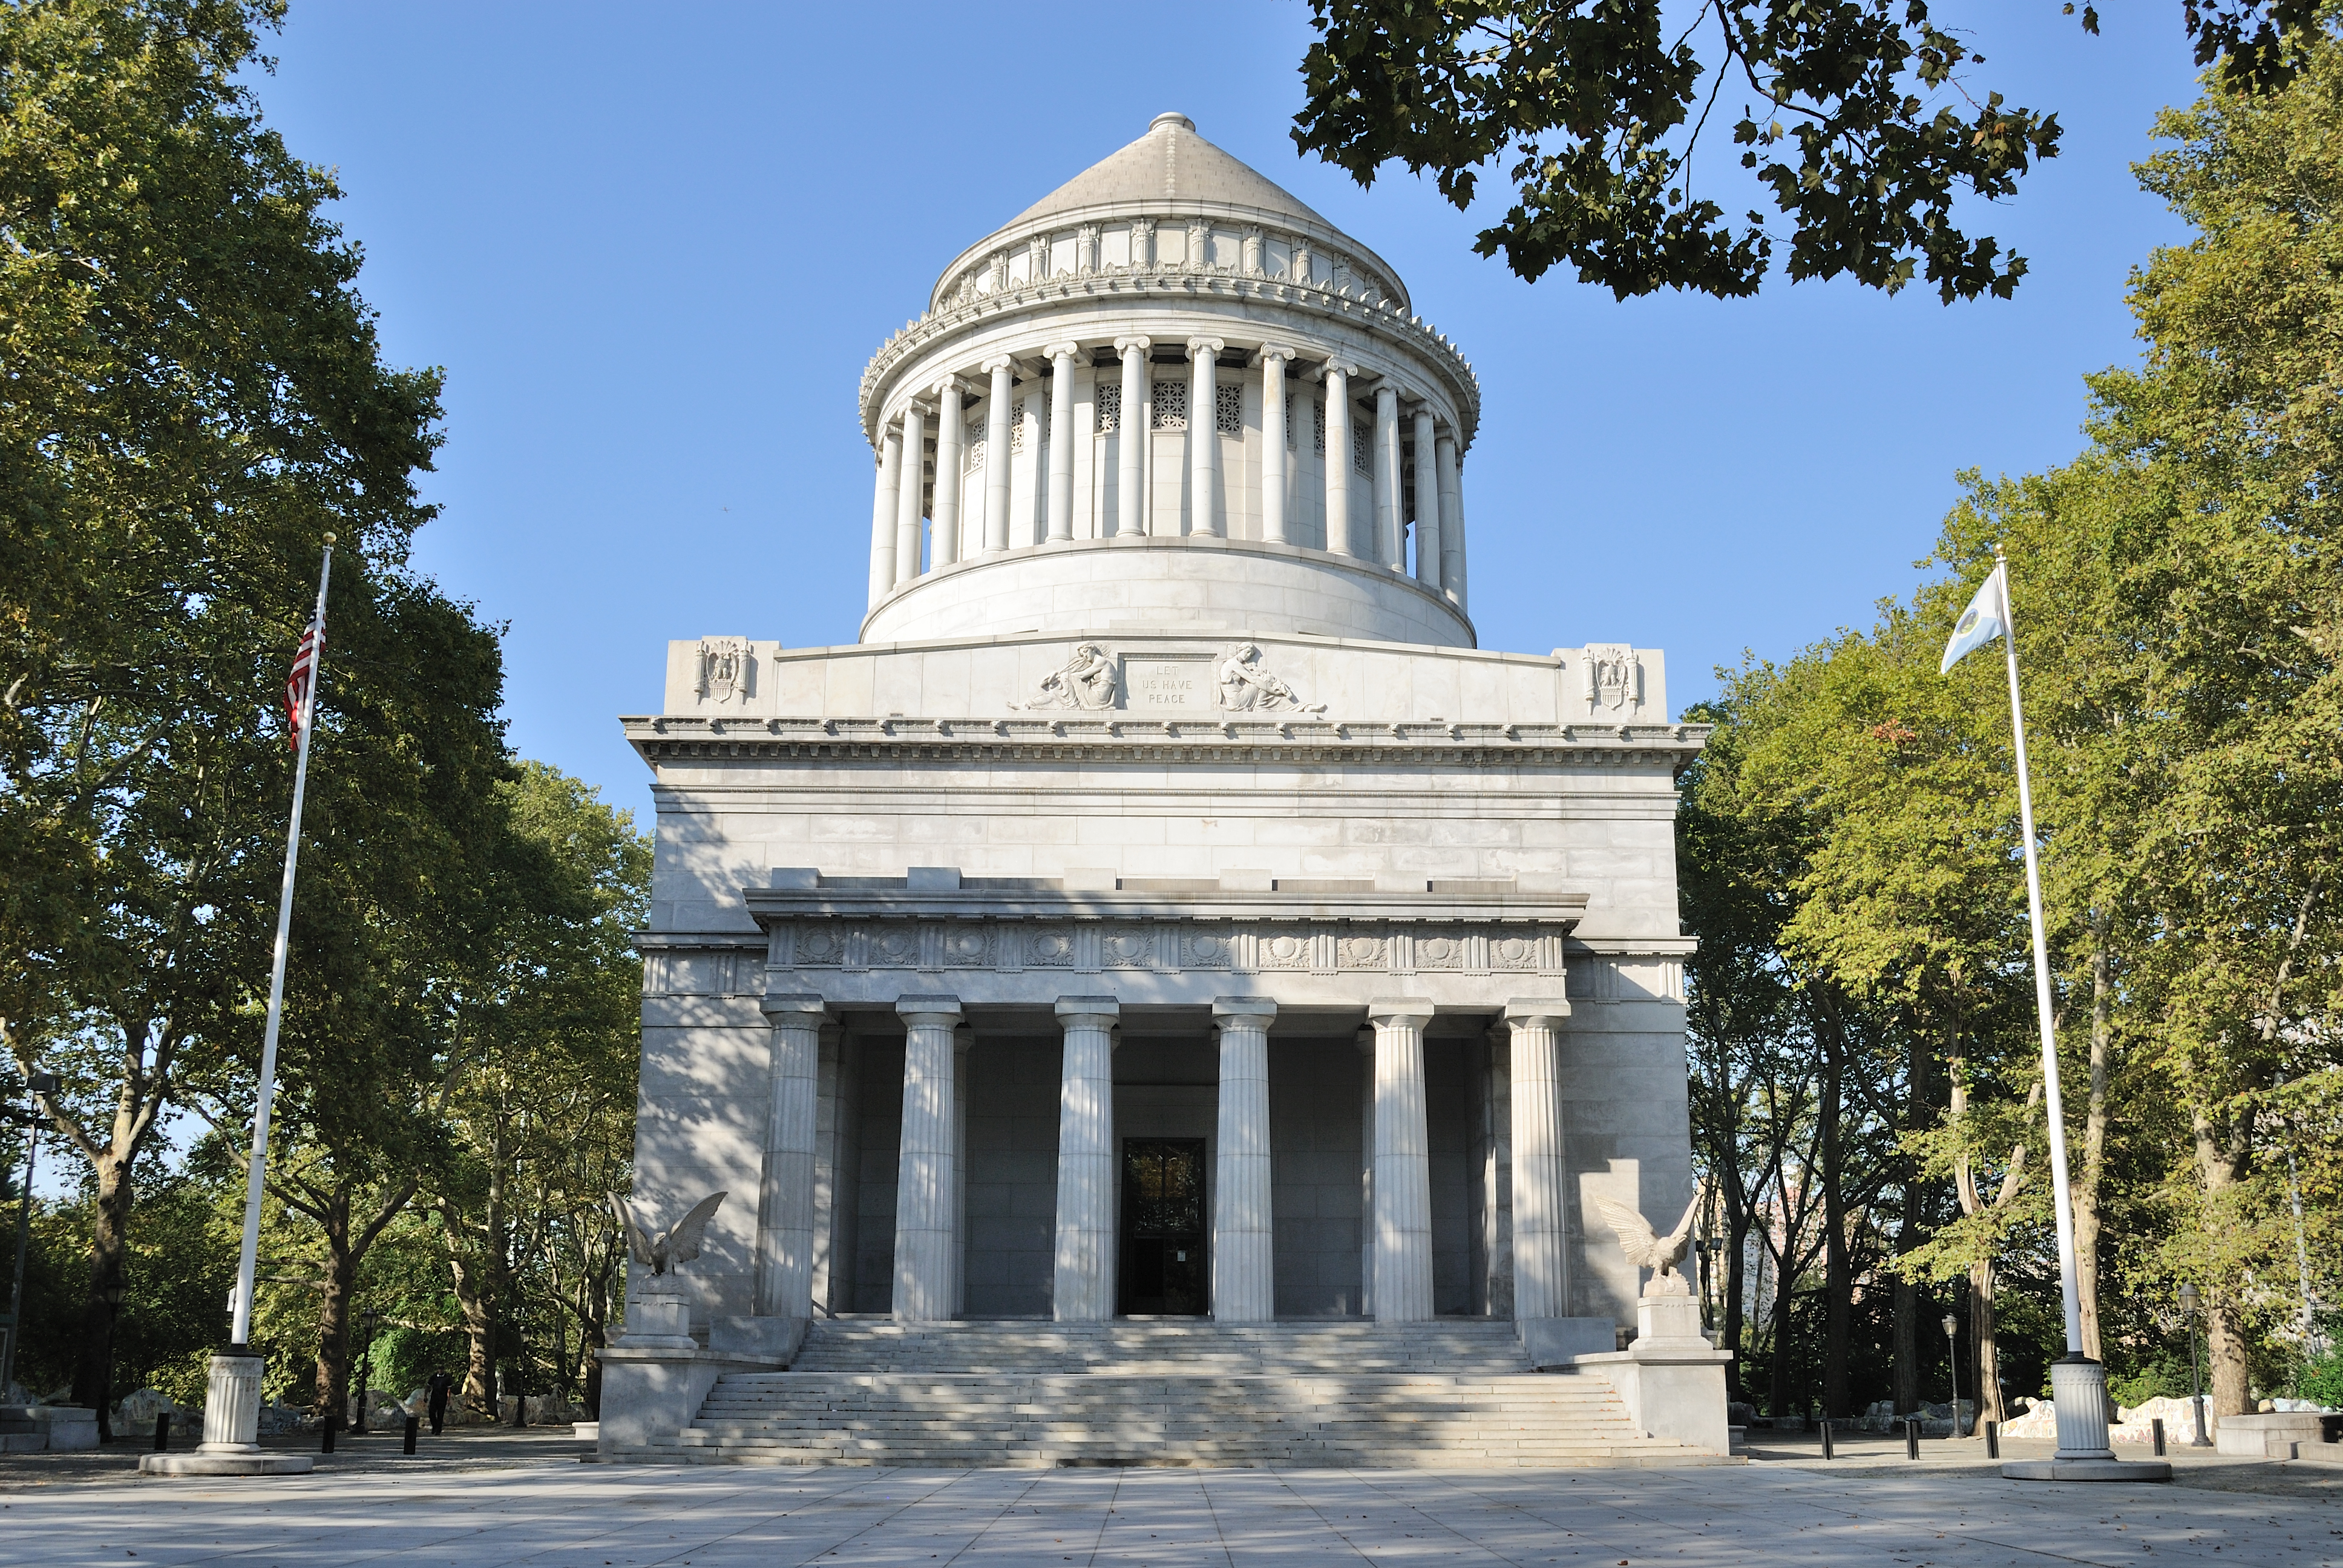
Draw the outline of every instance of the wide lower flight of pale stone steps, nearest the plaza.
M731 1373L675 1441L740 1465L1710 1465L1596 1376Z

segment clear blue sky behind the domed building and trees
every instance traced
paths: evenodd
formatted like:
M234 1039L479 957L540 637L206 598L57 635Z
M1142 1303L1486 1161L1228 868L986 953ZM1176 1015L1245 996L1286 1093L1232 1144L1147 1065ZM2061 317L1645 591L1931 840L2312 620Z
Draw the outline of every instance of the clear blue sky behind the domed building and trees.
M2015 302L1521 284L1429 183L1359 190L1296 152L1298 0L295 0L258 94L340 171L389 359L448 370L417 565L508 626L513 745L649 825L616 715L658 708L668 638L855 640L869 354L963 246L1160 110L1385 255L1474 361L1483 647L1661 647L1682 708L1743 649L1870 623L1959 469L2078 450L2081 375L2137 356L2125 274L2181 237L2130 173L2195 94L2177 0L2104 7L2102 38L2055 0L1938 9L1987 54L1973 91L2067 127L2015 202L1970 211L2031 263ZM1731 117L1703 178L1739 211Z

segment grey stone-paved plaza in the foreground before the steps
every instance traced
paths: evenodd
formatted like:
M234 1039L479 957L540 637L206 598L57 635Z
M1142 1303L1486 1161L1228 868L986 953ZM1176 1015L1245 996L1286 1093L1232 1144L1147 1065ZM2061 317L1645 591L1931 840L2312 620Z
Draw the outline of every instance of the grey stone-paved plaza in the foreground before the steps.
M12 1486L0 1491L0 1568L2343 1568L2343 1507L2331 1495L2027 1486L1949 1463L1666 1472L499 1463Z

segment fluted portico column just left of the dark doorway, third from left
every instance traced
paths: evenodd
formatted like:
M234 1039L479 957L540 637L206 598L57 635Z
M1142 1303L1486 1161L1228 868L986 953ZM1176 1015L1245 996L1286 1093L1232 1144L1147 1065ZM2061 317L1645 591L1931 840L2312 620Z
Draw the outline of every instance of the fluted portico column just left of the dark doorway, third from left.
M1059 996L1066 1055L1057 1083L1059 1322L1115 1315L1115 1017L1113 996Z

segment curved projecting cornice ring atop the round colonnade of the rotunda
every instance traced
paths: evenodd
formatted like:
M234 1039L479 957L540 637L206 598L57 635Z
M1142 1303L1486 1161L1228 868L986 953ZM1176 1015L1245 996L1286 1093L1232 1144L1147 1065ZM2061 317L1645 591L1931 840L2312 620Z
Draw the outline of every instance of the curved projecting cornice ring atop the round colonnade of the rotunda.
M1403 307L1389 300L1364 298L1364 293L1321 288L1317 284L1298 284L1291 279L1251 277L1232 267L1200 270L1188 267L1186 263L1164 263L1153 267L1104 267L1099 272L1073 277L1057 274L1038 284L1019 284L998 293L975 295L965 302L933 309L914 321L904 321L902 330L879 345L879 352L872 354L869 366L862 370L862 387L858 394L862 410L862 438L876 450L879 417L883 413L879 391L911 356L982 323L1036 316L1047 307L1068 302L1115 300L1134 305L1164 300L1286 305L1303 314L1317 314L1328 323L1352 323L1368 330L1368 335L1382 335L1413 349L1450 384L1457 398L1460 455L1471 448L1471 438L1481 427L1481 377L1474 375L1471 361L1464 359L1464 352L1422 316L1410 316Z

